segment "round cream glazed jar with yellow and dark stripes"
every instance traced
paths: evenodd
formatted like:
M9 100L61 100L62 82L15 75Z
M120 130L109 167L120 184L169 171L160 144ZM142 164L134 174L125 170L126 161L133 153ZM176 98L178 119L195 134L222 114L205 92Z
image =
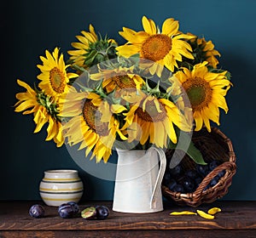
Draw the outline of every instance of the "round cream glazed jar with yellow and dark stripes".
M58 207L68 201L79 202L84 185L77 170L55 169L44 171L39 192L44 203Z

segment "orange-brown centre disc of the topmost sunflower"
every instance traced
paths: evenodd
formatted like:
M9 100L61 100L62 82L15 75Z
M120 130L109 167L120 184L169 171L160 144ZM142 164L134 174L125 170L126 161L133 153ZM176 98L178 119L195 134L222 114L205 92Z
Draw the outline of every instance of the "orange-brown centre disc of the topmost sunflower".
M172 39L163 34L156 34L148 37L143 42L142 56L144 59L157 61L164 59L172 48Z

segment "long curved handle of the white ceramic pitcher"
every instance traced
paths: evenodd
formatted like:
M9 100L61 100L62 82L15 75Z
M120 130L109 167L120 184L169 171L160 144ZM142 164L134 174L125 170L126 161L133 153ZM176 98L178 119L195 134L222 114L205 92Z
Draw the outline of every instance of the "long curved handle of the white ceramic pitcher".
M154 184L154 189L153 189L151 199L150 199L150 208L153 209L156 207L156 197L157 197L158 193L160 192L160 186L161 186L161 183L164 178L165 171L166 171L166 154L165 154L164 150L162 150L160 148L151 147L148 150L150 150L150 149L156 150L160 156L159 173L157 175L157 178L156 178L156 181Z

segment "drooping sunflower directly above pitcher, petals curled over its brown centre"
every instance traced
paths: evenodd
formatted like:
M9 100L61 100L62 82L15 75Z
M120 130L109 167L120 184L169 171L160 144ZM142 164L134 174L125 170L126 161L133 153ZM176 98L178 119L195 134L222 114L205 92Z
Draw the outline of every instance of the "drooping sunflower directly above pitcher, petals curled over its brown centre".
M140 99L139 99L140 98ZM125 125L129 134L128 142L139 140L140 144L148 142L163 148L168 138L177 143L174 125L183 131L190 131L189 124L177 106L168 99L158 99L152 95L137 95L131 99L131 109L125 115Z

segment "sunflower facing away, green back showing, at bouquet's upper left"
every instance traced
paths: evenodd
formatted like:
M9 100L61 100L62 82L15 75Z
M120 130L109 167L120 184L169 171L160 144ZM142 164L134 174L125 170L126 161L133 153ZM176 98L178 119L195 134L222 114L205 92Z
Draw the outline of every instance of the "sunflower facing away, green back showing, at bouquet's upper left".
M67 51L71 55L69 60L73 66L87 68L116 57L117 43L113 39L98 38L92 25L89 26L89 31L81 31L83 36L77 36L79 42L71 44L76 49Z

